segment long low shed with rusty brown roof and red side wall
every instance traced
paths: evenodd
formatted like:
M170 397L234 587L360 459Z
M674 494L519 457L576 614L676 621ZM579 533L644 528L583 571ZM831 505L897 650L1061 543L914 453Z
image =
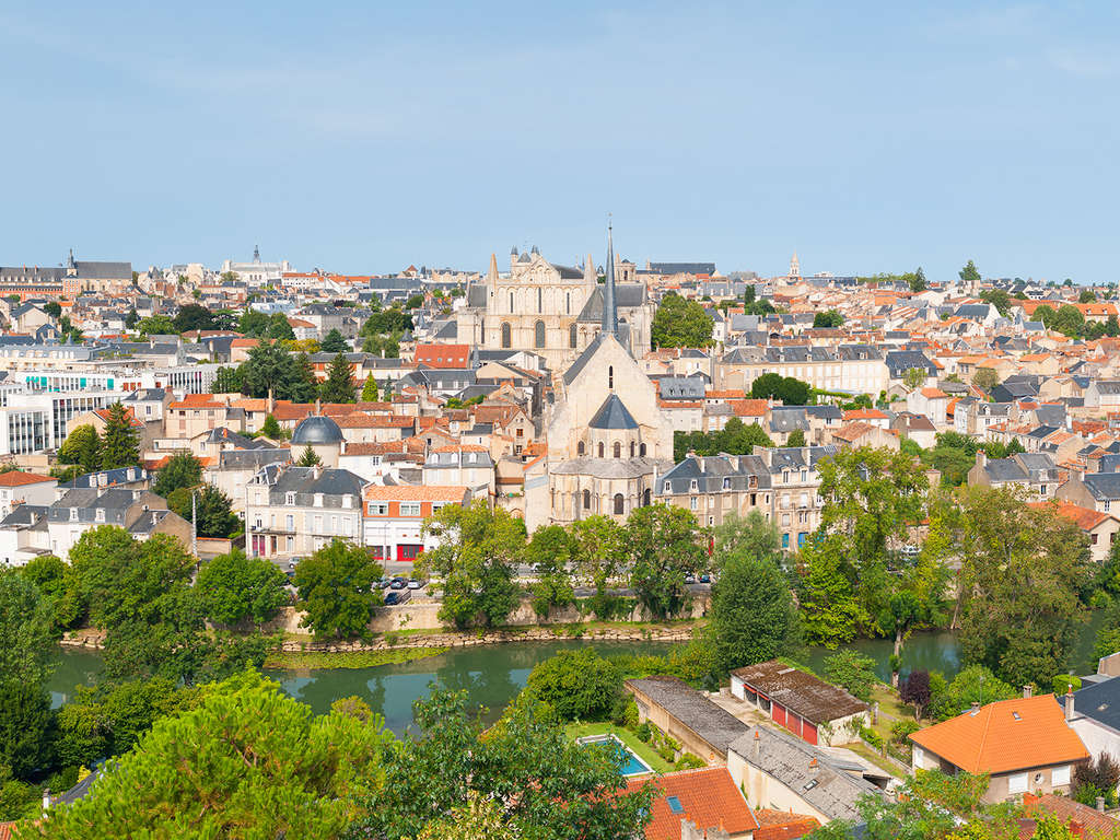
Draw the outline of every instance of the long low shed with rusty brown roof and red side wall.
M867 703L777 660L731 671L731 696L813 745L847 744L851 725L869 722Z

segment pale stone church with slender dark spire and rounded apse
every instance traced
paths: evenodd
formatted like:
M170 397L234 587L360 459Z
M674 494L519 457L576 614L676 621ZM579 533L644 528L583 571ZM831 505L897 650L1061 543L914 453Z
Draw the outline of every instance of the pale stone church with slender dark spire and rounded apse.
M672 424L657 408L656 385L634 360L634 330L619 317L609 231L606 264L594 338L553 377L545 480L525 484L530 530L595 514L624 521L651 503L657 476L673 466Z

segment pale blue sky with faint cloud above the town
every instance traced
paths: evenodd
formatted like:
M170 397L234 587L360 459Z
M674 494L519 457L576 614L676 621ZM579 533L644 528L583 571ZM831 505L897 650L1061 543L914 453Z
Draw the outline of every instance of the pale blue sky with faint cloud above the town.
M0 264L1117 280L1120 4L0 3Z

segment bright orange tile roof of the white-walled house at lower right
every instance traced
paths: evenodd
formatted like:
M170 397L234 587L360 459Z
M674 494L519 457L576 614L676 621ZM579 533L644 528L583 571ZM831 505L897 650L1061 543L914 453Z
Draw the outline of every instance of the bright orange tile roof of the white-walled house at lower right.
M969 773L1009 773L1089 758L1053 694L988 703L911 740Z

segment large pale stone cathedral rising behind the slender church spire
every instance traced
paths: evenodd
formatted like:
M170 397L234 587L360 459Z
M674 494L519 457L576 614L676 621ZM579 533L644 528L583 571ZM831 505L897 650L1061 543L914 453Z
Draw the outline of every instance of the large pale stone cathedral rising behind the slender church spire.
M650 349L655 306L634 263L608 256L616 284L618 340L633 355ZM559 265L534 246L510 253L510 272L500 274L491 254L489 270L467 286L466 306L457 318L458 340L480 349L530 351L553 371L563 370L587 349L603 324L604 283L597 281L590 254L582 268Z

